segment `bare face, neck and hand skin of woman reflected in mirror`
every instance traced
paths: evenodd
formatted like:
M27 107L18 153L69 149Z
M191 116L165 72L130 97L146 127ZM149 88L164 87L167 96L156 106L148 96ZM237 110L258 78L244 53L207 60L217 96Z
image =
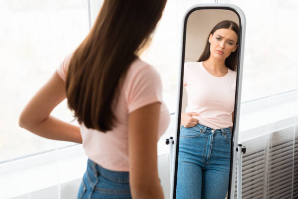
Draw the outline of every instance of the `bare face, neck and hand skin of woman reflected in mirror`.
M223 77L227 74L228 68L225 66L225 59L234 51L237 50L238 36L230 29L221 28L209 35L210 42L210 57L203 61L203 66L206 71L213 76ZM181 114L181 124L185 128L194 127L199 120L192 116L199 116L195 112L186 112ZM232 120L234 112L232 113ZM232 130L232 127L231 127Z

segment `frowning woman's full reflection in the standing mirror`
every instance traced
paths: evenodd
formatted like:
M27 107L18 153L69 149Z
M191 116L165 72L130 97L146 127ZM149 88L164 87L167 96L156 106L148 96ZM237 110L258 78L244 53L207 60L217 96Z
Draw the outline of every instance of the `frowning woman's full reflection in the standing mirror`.
M238 56L238 25L219 22L198 62L186 62L177 199L224 199L228 190Z

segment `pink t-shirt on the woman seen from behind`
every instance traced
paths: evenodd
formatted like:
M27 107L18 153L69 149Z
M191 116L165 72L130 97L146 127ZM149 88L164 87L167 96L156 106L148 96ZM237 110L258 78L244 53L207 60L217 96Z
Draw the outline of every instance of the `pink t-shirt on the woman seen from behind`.
M66 57L57 69L64 81L70 58ZM154 102L161 102L158 127L160 138L167 130L170 120L168 108L162 100L161 78L154 67L137 58L130 65L114 109L118 121L116 126L111 131L102 133L88 129L83 123L80 125L83 148L88 158L110 170L129 171L128 115Z

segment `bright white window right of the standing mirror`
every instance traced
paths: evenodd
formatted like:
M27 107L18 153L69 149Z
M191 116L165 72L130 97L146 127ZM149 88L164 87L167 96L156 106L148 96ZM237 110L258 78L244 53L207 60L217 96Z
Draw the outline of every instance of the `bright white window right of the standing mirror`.
M293 0L230 0L246 16L242 101L298 88L298 3Z

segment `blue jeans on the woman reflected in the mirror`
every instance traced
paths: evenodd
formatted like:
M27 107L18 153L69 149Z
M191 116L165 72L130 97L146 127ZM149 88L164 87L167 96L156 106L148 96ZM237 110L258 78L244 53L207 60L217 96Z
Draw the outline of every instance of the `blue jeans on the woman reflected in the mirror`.
M180 129L176 199L224 199L228 191L231 129L201 124Z

